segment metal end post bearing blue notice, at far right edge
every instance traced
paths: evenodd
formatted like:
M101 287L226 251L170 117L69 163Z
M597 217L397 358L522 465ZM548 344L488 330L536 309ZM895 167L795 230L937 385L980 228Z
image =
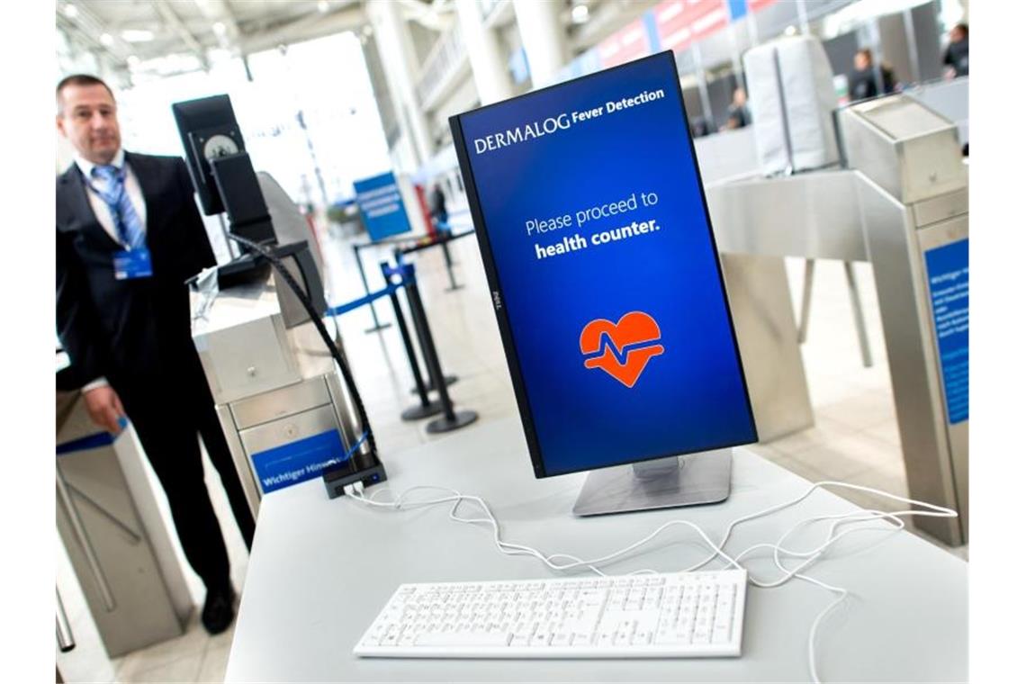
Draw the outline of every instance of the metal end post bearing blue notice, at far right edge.
M916 526L969 540L969 174L957 127L905 95L839 116L858 169L913 498L958 518Z

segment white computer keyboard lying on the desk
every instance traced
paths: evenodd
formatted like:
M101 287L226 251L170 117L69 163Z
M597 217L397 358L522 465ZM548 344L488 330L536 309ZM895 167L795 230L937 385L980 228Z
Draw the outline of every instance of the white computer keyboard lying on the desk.
M401 585L353 649L371 657L741 655L744 570Z

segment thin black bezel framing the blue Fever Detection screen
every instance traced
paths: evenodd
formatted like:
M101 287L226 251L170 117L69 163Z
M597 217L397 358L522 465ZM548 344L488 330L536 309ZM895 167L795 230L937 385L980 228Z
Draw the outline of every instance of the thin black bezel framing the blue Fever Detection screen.
M745 392L745 406L748 411L748 420L751 428L752 439L750 441L745 441L745 440L728 441L723 444L710 445L701 450L697 449L694 451L683 451L683 452L674 451L671 453L662 453L652 456L630 458L628 460L619 464L602 466L601 468L616 468L625 465L645 462L648 460L658 460L660 458L668 458L671 456L685 455L687 453L697 453L699 451L725 449L734 446L742 446L744 444L752 444L758 441L758 432L755 425L755 415L752 411L751 396L748 391L748 380L745 375L745 365L741 358L741 349L738 346L738 334L734 325L734 313L731 310L731 300L726 292L726 283L723 280L723 267L722 264L720 264L719 250L716 247L716 236L714 235L712 230L712 217L709 214L709 204L706 200L705 184L703 184L702 182L702 170L699 167L698 155L695 151L695 139L694 136L692 135L690 125L688 124L687 110L684 105L684 95L680 87L680 77L677 72L677 63L676 58L673 56L672 50L664 50L662 52L657 52L655 54L650 54L645 57L641 57L639 59L633 59L631 62L627 62L622 65L618 65L616 67L610 67L609 69L604 69L602 71L595 72L593 74L588 74L575 79L563 81L562 83L556 83L554 85L550 85L544 88L531 90L530 92L526 92L522 95L517 95L515 97L510 97L508 99L504 99L499 103L494 103L490 105L485 105L483 107L478 107L476 109L469 110L467 112L456 114L449 117L449 128L451 129L452 132L452 144L453 147L456 148L457 159L460 163L460 172L463 176L464 187L467 190L467 202L469 204L471 218L474 222L475 235L477 236L477 245L481 251L481 260L483 261L484 265L485 277L487 278L488 281L488 291L491 294L491 304L492 304L491 308L496 314L496 319L498 320L499 323L499 334L503 340L503 354L506 356L506 364L509 367L510 377L513 381L513 394L516 397L517 409L519 410L520 413L520 421L523 424L524 438L527 442L527 450L530 453L530 461L531 465L534 466L535 477L539 479L548 477L557 477L560 475L570 475L574 473L582 473L599 469L582 468L580 470L560 471L552 473L549 472L545 467L545 459L542 451L542 445L538 438L538 432L535 427L535 418L530 410L530 400L527 397L523 371L520 368L520 358L519 354L517 353L516 339L513 336L513 326L510 322L509 316L507 315L505 306L503 304L505 301L505 296L502 284L499 280L498 268L495 258L492 256L491 242L488 239L488 231L486 228L486 223L484 220L484 214L481 211L480 199L478 198L477 194L477 182L474 178L474 172L470 164L470 157L468 155L466 140L463 135L462 118L469 114L474 114L477 112L481 112L483 110L508 105L509 103L512 102L530 97L540 92L545 92L547 90L551 90L554 88L564 87L568 83L601 77L607 75L611 71L619 71L646 59L652 59L652 61L669 59L670 63L669 66L671 66L673 70L673 76L674 76L673 81L676 84L677 88L677 97L678 102L680 103L680 114L683 117L684 132L687 137L687 144L688 146L690 146L692 164L694 165L695 176L699 184L699 195L702 198L702 210L705 214L706 228L709 231L709 241L713 249L713 255L715 257L713 260L716 265L716 274L719 277L720 292L722 293L723 303L726 307L727 323L731 327L731 340L734 344L735 358L738 363L738 369L740 370L741 373L741 383Z

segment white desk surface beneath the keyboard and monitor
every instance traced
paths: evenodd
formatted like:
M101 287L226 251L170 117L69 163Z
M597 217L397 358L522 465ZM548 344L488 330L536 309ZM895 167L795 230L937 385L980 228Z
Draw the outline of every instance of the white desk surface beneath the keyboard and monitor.
M464 430L384 460L390 479L379 487L399 492L440 484L480 495L506 540L579 557L620 549L683 517L718 541L728 521L808 486L736 449L733 490L723 504L575 518L570 509L584 475L536 480L516 419ZM739 526L727 551L776 541L813 515L852 510L818 490L796 507ZM606 572L674 571L708 555L694 531L671 530ZM813 548L822 534L797 535L791 548ZM762 578L778 574L764 556L746 564ZM960 559L909 532L870 531L845 537L807 573L852 592L820 628L817 661L824 681L969 678L968 565ZM779 589L749 587L737 658L433 660L352 653L402 582L550 576L536 559L500 554L490 528L449 521L447 506L372 510L349 497L328 499L320 480L282 489L261 505L226 681L808 681L808 630L834 598L800 579Z

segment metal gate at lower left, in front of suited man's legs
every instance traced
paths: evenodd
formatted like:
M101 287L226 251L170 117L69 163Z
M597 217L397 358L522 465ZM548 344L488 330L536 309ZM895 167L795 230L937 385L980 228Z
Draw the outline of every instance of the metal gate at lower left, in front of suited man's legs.
M181 635L192 595L133 431L98 431L58 392L56 433L57 530L107 654Z

